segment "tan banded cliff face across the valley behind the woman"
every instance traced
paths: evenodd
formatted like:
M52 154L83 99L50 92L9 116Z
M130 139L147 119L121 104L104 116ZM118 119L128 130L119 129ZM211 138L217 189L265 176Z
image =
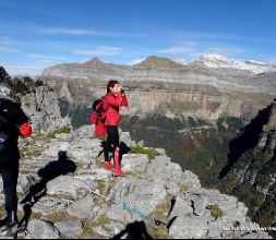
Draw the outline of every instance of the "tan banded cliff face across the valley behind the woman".
M44 80L59 98L68 101L71 109L75 106L91 107L95 99L106 93L106 82ZM130 100L130 107L122 111L125 116L161 113L170 118L192 117L209 121L236 117L247 121L272 98L267 94L176 83L123 82L122 85Z

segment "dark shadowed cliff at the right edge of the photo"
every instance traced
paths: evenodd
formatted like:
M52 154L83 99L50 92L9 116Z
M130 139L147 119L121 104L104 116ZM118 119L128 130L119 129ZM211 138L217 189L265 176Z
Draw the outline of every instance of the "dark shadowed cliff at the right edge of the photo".
M262 226L275 226L276 196L276 100L232 142L231 167L223 181L225 192L235 194ZM243 142L238 146L238 143ZM247 144L244 144L247 143Z

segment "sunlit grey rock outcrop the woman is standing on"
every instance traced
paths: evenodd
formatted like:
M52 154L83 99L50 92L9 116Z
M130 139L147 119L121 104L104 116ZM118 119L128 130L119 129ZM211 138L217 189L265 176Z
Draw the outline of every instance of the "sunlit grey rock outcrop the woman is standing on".
M41 165L51 166L50 156L57 156L62 148L99 152L100 142L87 136L89 129L83 127L77 133L62 134L49 144L41 144L40 156L33 158L40 160L40 165L31 165L29 158L23 159L23 167L32 166L32 169L31 177L22 177L21 189L32 182L37 184L39 178L34 177L35 172ZM85 154L81 158L71 154L70 161L77 164L74 172L62 172L49 179L46 196L34 193L29 204L34 213L43 217L28 224L29 233L24 238L112 238L121 232L128 238L131 236L127 230L129 225L141 221L147 225L142 213L167 223L168 231L164 228L167 238L269 238L263 231L233 231L237 225L244 229L259 228L247 217L245 205L217 190L203 189L197 176L183 171L166 155L151 161L146 155L124 155L122 168L129 171L125 178L115 178L111 171L103 169L104 159L98 154ZM24 209L24 205L20 209Z

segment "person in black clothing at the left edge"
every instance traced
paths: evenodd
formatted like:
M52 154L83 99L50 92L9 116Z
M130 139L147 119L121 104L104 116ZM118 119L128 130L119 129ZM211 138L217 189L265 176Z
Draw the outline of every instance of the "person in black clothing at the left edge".
M20 105L0 98L0 173L5 196L8 232L17 225L16 185L20 169L19 136L27 137L32 127Z

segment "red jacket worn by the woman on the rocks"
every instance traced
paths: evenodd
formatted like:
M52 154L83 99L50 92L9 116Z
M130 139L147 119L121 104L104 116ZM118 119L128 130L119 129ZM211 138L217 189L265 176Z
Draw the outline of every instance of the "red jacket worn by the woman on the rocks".
M106 125L118 125L121 120L120 107L128 107L128 98L121 92L117 95L108 93L104 99L104 111L106 112Z

